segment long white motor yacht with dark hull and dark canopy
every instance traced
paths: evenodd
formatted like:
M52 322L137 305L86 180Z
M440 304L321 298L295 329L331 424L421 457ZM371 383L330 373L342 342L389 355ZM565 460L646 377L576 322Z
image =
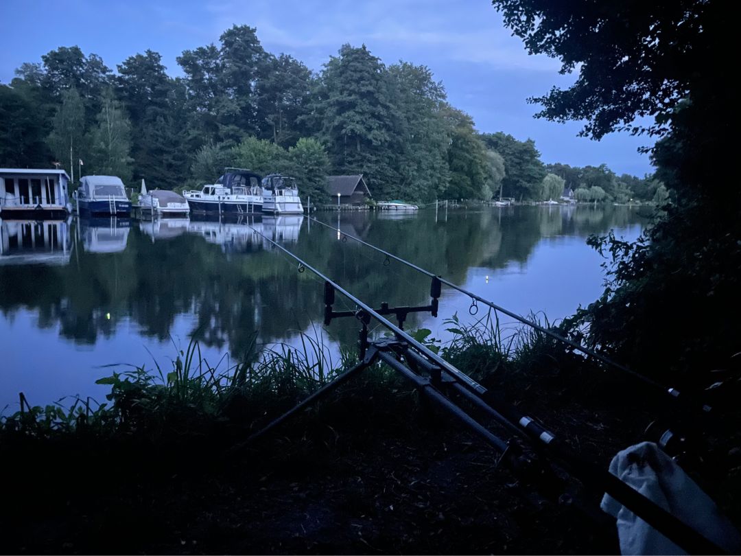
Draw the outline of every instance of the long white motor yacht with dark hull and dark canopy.
M243 168L225 168L213 185L183 196L193 214L239 216L262 212L261 177Z

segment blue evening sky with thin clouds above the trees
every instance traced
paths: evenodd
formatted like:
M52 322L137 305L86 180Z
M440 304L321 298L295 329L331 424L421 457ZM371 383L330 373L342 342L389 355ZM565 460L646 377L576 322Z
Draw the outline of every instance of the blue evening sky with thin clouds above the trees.
M49 50L73 44L99 54L112 69L150 48L162 54L171 75L179 75L175 59L182 50L218 42L232 24L257 27L266 50L289 53L316 71L342 44L365 43L386 64L427 65L476 128L534 139L544 162L605 162L617 173L639 176L651 171L648 156L637 153L646 138L615 133L594 142L576 136L576 122L533 118L538 107L525 99L574 77L560 76L555 60L528 56L488 0L0 0L0 21L6 22L4 83L21 63L40 62Z

